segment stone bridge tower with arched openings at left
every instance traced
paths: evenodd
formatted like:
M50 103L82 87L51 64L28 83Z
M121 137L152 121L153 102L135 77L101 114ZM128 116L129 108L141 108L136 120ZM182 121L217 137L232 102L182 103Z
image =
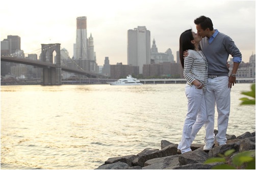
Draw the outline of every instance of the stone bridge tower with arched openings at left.
M44 67L41 73L42 85L61 85L61 52L60 44L41 44L41 61L56 64L56 67ZM53 56L56 52L56 58Z

